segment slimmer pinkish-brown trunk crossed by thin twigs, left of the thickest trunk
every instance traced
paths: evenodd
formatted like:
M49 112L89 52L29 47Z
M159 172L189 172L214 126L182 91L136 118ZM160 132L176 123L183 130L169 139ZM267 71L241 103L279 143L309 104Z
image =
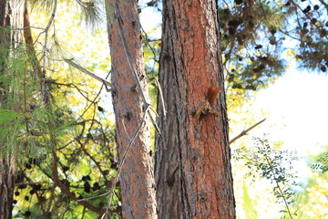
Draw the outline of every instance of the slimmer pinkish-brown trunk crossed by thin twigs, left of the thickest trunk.
M147 81L143 61L138 1L118 1L120 16L115 13L115 1L108 2L108 36L111 54L112 98L116 118L118 158L121 161L128 142L142 120L146 110L141 99L137 79L128 65L128 58L119 34L121 18L134 68L137 69L142 90L147 94ZM124 218L156 218L156 196L153 166L151 164L149 121L144 121L137 139L128 151L119 177Z

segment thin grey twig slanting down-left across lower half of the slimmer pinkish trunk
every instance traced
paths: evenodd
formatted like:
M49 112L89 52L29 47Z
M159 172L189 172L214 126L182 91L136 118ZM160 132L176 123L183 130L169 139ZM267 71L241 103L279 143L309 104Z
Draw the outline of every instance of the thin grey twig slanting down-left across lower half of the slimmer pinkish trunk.
M112 200L113 193L114 193L114 189L115 189L116 184L118 183L118 177L119 177L120 172L122 171L122 167L123 167L123 164L124 164L124 162L125 162L125 160L127 158L128 151L131 148L132 143L136 140L136 138L138 136L138 132L141 129L142 124L146 120L146 115L147 115L148 112L149 112L149 106L147 107L147 109L145 110L145 112L144 112L144 114L142 116L142 120L140 121L140 123L138 125L138 129L135 131L132 139L128 142L128 146L126 148L126 151L124 151L124 154L122 156L122 160L119 162L119 165L118 165L118 174L115 177L115 180L113 181L113 184L112 184L111 188L109 189L108 208L106 209L106 213L101 218L105 218L105 216L108 214L108 211L110 209L111 200Z

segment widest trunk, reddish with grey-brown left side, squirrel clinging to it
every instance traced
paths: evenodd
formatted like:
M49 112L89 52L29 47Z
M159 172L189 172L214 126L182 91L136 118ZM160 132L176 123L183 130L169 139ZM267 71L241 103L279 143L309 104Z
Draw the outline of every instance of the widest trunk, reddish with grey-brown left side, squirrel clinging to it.
M164 0L156 180L159 218L235 218L225 95L193 117L211 86L224 88L214 0Z

